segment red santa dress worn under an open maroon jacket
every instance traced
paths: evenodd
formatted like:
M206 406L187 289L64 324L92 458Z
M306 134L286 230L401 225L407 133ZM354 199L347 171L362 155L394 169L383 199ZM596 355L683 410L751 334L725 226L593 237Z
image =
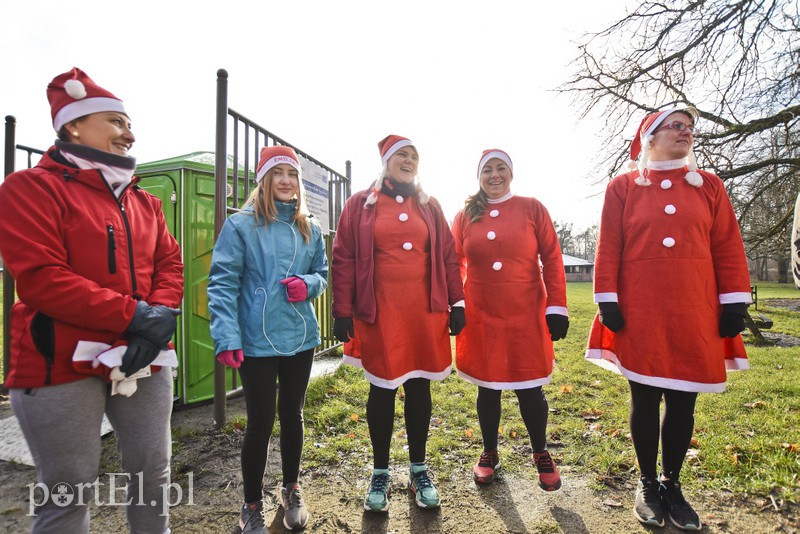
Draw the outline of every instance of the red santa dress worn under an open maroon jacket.
M431 238L414 197L377 195L373 262L375 321L354 318L344 362L386 389L445 379L453 361L449 314L431 311Z

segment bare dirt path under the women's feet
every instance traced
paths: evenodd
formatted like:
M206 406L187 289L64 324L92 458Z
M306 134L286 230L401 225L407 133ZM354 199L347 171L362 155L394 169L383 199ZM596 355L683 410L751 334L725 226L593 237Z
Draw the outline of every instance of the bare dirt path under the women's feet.
M0 403L2 404L2 403ZM7 416L0 405L0 417ZM244 414L242 400L229 404L228 416ZM174 443L173 480L184 492L181 504L171 509L175 534L237 532L241 499L238 437L213 430L212 407L178 411L173 426L178 429ZM113 470L113 437L107 438L104 455ZM277 488L279 455L270 454L267 487ZM513 475L505 474L495 484L477 487L471 465L465 465L451 479L438 479L442 493L440 510L420 510L405 490L407 471L392 473L391 508L388 514L365 513L366 459L345 458L340 466L303 473L306 502L311 513L307 532L319 533L567 533L606 534L650 532L633 518L633 476L619 489L594 489L591 477L564 466L563 488L546 494L535 484L535 469L527 466ZM191 485L189 484L191 476ZM0 461L0 532L28 531L28 484L35 481L32 467ZM192 502L189 502L191 487ZM177 500L176 495L173 499ZM798 510L777 512L769 501L753 502L726 494L693 494L691 502L706 524L704 532L798 533ZM286 532L279 493L273 489L265 505L270 532ZM92 532L126 532L119 507L92 508ZM668 526L655 531L680 532Z

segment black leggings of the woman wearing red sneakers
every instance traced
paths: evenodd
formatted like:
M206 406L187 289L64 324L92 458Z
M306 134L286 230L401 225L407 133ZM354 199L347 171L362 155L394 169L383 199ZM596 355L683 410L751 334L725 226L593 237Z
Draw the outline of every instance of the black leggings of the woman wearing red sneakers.
M478 386L478 423L483 436L483 449L497 449L497 432L500 429L500 396L503 392ZM515 389L519 399L519 412L528 435L531 437L533 452L547 448L547 416L549 407L542 387Z

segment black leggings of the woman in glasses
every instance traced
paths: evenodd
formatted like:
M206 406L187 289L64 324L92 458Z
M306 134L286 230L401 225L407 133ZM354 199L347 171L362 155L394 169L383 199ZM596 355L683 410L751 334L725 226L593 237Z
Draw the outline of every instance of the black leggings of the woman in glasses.
M697 393L675 391L628 381L631 386L631 437L642 476L655 478L658 438L661 436L661 472L678 480L694 431ZM664 416L659 424L659 404L664 397Z

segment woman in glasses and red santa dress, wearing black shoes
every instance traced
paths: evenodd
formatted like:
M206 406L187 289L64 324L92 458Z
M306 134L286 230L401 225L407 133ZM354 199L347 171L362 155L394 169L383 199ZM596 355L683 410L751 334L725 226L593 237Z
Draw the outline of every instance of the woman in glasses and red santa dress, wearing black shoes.
M697 394L724 391L726 369L748 368L739 333L751 302L725 186L697 170L697 118L692 107L646 116L631 143L638 169L608 184L595 264L599 313L586 351L630 384L641 475L634 515L655 526L669 517L684 530L701 528L679 482Z

